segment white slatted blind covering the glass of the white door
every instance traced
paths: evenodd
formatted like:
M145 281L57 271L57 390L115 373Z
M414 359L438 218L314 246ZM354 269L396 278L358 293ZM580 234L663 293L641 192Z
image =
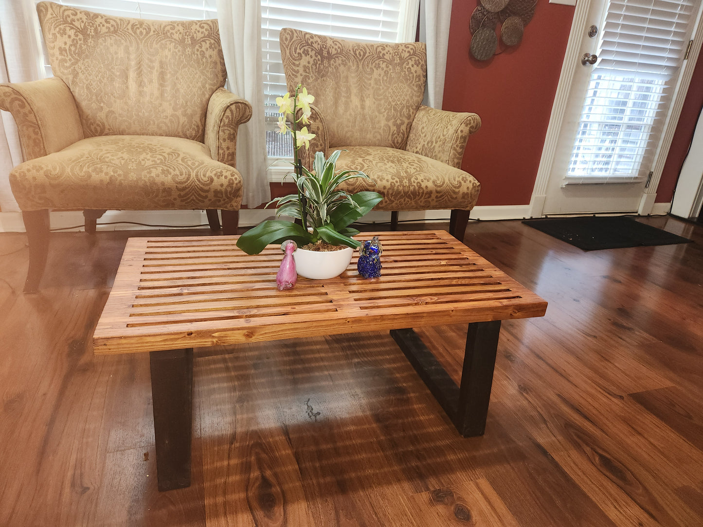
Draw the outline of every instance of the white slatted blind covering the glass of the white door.
M700 0L610 0L565 183L643 181Z

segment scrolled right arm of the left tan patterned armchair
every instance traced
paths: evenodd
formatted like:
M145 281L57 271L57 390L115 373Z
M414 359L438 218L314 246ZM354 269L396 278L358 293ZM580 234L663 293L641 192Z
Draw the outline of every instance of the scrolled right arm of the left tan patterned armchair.
M239 125L252 118L252 105L231 91L218 88L205 115L205 145L212 159L236 167Z

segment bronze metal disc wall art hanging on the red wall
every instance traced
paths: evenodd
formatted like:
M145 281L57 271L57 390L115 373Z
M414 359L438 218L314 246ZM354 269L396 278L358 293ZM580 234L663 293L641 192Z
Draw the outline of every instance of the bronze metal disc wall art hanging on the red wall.
M537 0L480 0L469 22L471 56L476 60L489 60L496 54L498 24L503 45L520 44L524 27L532 20L536 5Z

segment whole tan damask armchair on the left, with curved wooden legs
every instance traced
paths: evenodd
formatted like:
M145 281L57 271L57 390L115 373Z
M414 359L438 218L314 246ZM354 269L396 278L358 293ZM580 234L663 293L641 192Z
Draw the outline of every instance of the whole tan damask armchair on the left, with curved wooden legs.
M46 263L49 210L206 209L236 233L238 126L252 108L226 91L217 20L165 22L51 2L37 13L54 77L0 84L25 162L10 183L30 241L25 291Z

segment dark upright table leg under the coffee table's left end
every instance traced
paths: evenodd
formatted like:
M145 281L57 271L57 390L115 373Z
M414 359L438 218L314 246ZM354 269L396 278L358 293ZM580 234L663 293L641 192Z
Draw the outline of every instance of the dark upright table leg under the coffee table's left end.
M151 351L151 396L159 490L191 486L193 349Z

